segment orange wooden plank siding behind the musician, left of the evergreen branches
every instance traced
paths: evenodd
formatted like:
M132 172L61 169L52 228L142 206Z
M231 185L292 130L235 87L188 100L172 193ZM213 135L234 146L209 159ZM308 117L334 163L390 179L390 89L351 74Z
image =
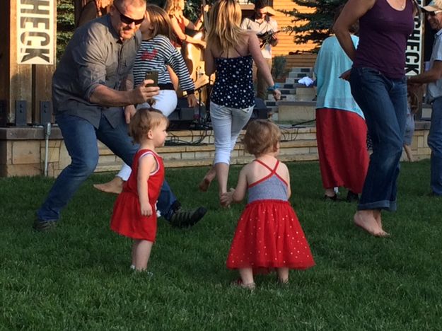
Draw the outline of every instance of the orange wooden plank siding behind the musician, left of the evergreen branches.
M293 8L297 8L298 11L301 11L302 13L312 13L315 11L314 8L298 6L291 0L274 0L273 8L277 11L277 15L274 16L274 19L277 20L279 29L285 26L293 26L295 24L291 21L293 16L286 16L279 10L284 9L286 11L290 11ZM299 25L301 23L296 24ZM273 47L272 55L275 57L277 55L287 55L289 52L308 52L316 46L313 42L308 42L306 44L295 44L295 42L293 42L293 37L293 33L278 33L279 43L276 47Z

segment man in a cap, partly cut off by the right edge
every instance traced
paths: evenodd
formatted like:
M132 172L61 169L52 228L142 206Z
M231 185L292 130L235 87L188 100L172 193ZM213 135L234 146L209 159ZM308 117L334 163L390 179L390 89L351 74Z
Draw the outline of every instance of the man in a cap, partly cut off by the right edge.
M431 1L422 7L434 35L430 69L416 76L409 76L409 91L428 83L426 98L431 103L431 127L428 144L431 149L431 195L442 196L442 1Z

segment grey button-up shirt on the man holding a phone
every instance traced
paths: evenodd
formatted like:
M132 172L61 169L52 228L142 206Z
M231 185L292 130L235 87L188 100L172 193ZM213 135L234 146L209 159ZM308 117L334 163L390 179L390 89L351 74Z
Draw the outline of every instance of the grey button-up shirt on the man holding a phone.
M122 80L132 71L140 43L138 31L122 42L109 15L78 28L52 77L54 114L78 116L98 128L103 112L115 127L122 108L91 103L91 95L100 84L120 90Z

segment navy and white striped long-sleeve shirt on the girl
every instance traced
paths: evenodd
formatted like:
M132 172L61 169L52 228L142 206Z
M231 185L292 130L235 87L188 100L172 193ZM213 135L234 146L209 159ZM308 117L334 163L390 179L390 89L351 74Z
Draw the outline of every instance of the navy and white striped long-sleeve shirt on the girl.
M171 86L172 81L170 81L166 65L169 65L177 74L182 91L186 91L187 94L194 93L194 83L184 59L164 35L156 35L152 39L141 41L132 69L134 86L138 86L144 80L147 71L158 71L158 85Z

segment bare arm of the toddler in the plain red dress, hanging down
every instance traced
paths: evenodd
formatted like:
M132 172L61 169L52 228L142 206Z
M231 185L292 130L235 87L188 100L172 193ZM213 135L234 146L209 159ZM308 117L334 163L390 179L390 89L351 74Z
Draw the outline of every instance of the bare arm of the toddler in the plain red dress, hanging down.
M152 154L142 156L138 163L138 177L136 178L139 206L142 216L151 216L152 207L149 203L147 180L156 168L156 160Z

